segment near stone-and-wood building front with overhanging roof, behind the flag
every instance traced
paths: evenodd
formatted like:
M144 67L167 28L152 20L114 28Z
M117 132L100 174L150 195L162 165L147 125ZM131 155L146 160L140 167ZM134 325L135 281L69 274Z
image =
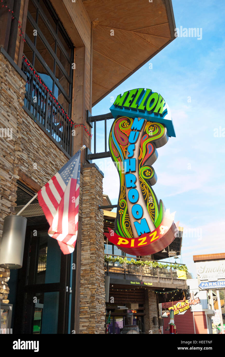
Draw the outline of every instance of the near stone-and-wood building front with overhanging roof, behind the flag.
M103 174L90 158L91 108L175 38L170 1L157 1L153 11L145 1L139 2L138 12L130 2L126 6L115 0L114 6L123 36L110 22L107 1L103 6L99 1L4 0L0 9L0 233L6 216L19 212L82 145L89 149L89 160L81 156L79 231L73 254L64 256L48 236L37 200L23 212L23 267L0 268L0 298L12 305L13 333L105 333L104 213L99 209ZM123 16L130 20L124 22ZM138 34L129 31L131 25ZM129 56L132 43L135 56ZM155 278L160 283L160 277ZM151 294L155 293L141 293L140 306L133 309L139 326L144 325L141 314ZM119 300L115 296L122 303ZM129 298L131 304L136 300ZM152 306L154 312L145 308L149 321L157 312L155 295ZM141 331L157 331L155 325L145 325Z

